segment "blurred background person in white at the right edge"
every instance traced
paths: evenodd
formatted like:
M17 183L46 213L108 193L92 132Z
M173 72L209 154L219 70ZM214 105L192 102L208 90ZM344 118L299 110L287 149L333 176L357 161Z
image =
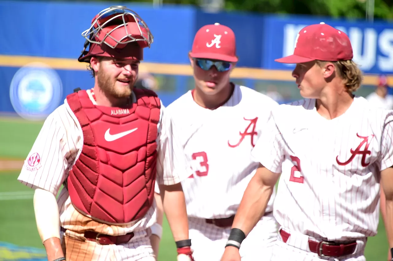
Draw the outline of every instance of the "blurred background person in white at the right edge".
M386 75L380 75L375 91L370 93L366 99L376 107L392 110L393 95L389 94L389 88Z

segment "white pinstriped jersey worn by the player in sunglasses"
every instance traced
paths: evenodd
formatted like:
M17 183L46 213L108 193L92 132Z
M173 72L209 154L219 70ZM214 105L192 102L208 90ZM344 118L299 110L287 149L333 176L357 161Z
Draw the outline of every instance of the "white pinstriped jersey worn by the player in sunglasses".
M264 135L270 110L278 103L250 88L235 85L217 109L201 107L188 91L168 105L192 176L182 181L189 217L223 218L236 213L259 162L251 150ZM268 209L272 210L274 195Z

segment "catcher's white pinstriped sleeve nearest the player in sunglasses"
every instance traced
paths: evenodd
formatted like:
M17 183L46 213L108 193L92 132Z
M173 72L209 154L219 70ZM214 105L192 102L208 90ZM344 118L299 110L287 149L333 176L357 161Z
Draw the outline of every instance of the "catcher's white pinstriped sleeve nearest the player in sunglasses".
M173 119L162 106L157 142L158 184L174 185L191 175L179 136Z

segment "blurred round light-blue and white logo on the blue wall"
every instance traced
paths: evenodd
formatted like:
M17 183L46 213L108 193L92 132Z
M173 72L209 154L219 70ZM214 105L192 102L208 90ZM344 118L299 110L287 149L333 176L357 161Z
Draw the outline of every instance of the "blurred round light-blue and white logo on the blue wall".
M59 106L61 97L61 79L45 63L29 63L21 67L9 88L14 110L27 120L45 119Z

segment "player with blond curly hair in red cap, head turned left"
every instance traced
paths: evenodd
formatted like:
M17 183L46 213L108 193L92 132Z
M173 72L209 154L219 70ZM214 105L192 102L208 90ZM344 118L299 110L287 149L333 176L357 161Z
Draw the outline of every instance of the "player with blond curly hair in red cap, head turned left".
M264 214L279 176L272 261L364 261L375 236L380 180L393 247L393 111L354 96L362 74L348 36L324 24L301 29L292 76L303 100L274 108L252 151L260 161L233 221L222 261L239 261L242 240Z

